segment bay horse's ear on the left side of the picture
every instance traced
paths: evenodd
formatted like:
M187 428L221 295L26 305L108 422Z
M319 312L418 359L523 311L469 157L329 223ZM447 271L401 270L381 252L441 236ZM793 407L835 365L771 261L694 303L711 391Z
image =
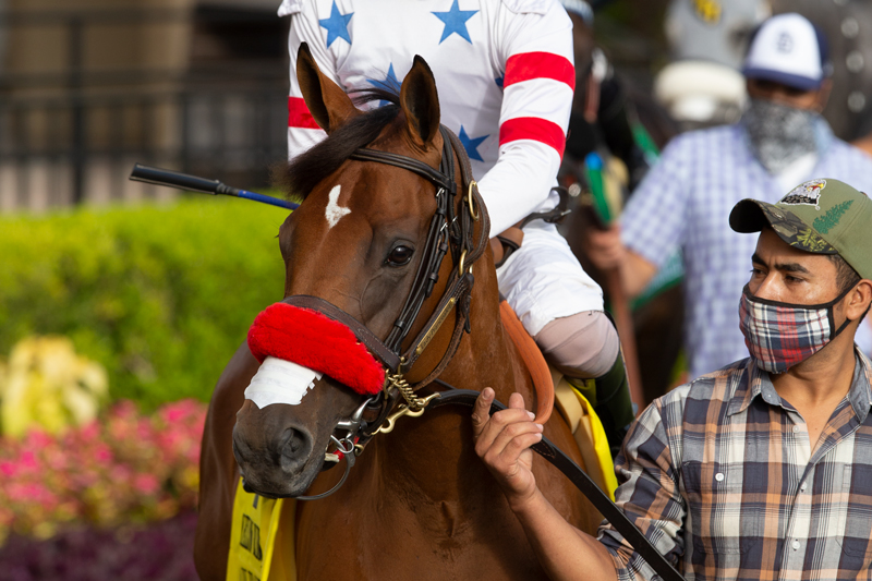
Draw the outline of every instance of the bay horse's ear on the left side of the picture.
M296 80L308 111L327 133L332 133L346 121L360 114L346 92L320 72L305 43L296 51Z

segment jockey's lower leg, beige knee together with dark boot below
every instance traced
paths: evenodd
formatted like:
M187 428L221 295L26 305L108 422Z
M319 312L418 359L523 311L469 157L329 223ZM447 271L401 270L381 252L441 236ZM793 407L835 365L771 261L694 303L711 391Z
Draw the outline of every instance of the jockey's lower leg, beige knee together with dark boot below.
M536 343L591 402L616 457L635 414L620 341L608 315L586 311L555 319L536 335Z

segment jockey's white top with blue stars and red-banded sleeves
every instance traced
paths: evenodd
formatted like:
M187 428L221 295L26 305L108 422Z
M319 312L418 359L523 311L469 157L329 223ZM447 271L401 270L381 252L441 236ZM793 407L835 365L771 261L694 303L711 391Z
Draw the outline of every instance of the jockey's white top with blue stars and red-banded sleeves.
M296 50L352 94L399 88L421 55L441 122L460 137L496 235L550 194L566 143L576 71L572 22L556 0L283 0L291 90L288 153L324 138L296 81Z

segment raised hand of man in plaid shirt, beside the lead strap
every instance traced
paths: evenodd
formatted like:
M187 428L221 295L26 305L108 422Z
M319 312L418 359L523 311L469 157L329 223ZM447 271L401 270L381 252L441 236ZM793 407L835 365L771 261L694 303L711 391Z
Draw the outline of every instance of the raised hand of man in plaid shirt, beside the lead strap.
M484 460L513 508L535 496L533 450L530 446L542 439L542 424L533 422L535 414L524 409L524 398L512 394L509 409L491 415L494 390L484 388L472 412L475 453Z

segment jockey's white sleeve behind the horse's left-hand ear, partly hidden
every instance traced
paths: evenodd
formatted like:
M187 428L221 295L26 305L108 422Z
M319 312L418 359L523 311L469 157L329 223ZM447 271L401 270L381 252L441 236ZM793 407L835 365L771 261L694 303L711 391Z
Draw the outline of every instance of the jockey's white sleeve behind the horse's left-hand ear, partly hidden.
M327 49L318 23L315 0L284 0L279 8L279 16L291 16L291 31L288 34L288 52L291 57L291 92L288 96L288 159L293 159L327 136L312 119L312 113L300 92L300 83L296 81L296 51L300 45L308 44L320 72L337 85L342 85L336 74L336 61Z

